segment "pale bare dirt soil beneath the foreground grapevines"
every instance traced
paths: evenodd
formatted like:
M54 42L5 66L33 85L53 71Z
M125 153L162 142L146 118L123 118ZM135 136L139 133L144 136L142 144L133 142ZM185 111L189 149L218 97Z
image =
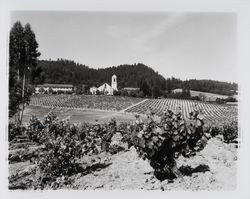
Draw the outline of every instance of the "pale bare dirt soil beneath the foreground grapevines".
M118 138L113 139L115 143ZM34 147L33 147L34 148ZM13 149L14 150L14 149ZM11 153L13 153L11 150ZM15 152L15 151L14 151ZM92 161L92 156L81 161ZM177 160L183 178L159 181L147 160L138 157L135 148L111 155L102 153L100 162L104 165L87 173L78 173L70 178L69 189L79 190L234 190L237 176L237 148L235 144L223 143L220 137L212 138L196 156ZM96 158L95 158L96 159ZM104 163L105 162L105 163ZM13 189L33 189L32 181L37 178L37 166L27 160L9 164L9 176ZM67 188L67 187L65 187Z

